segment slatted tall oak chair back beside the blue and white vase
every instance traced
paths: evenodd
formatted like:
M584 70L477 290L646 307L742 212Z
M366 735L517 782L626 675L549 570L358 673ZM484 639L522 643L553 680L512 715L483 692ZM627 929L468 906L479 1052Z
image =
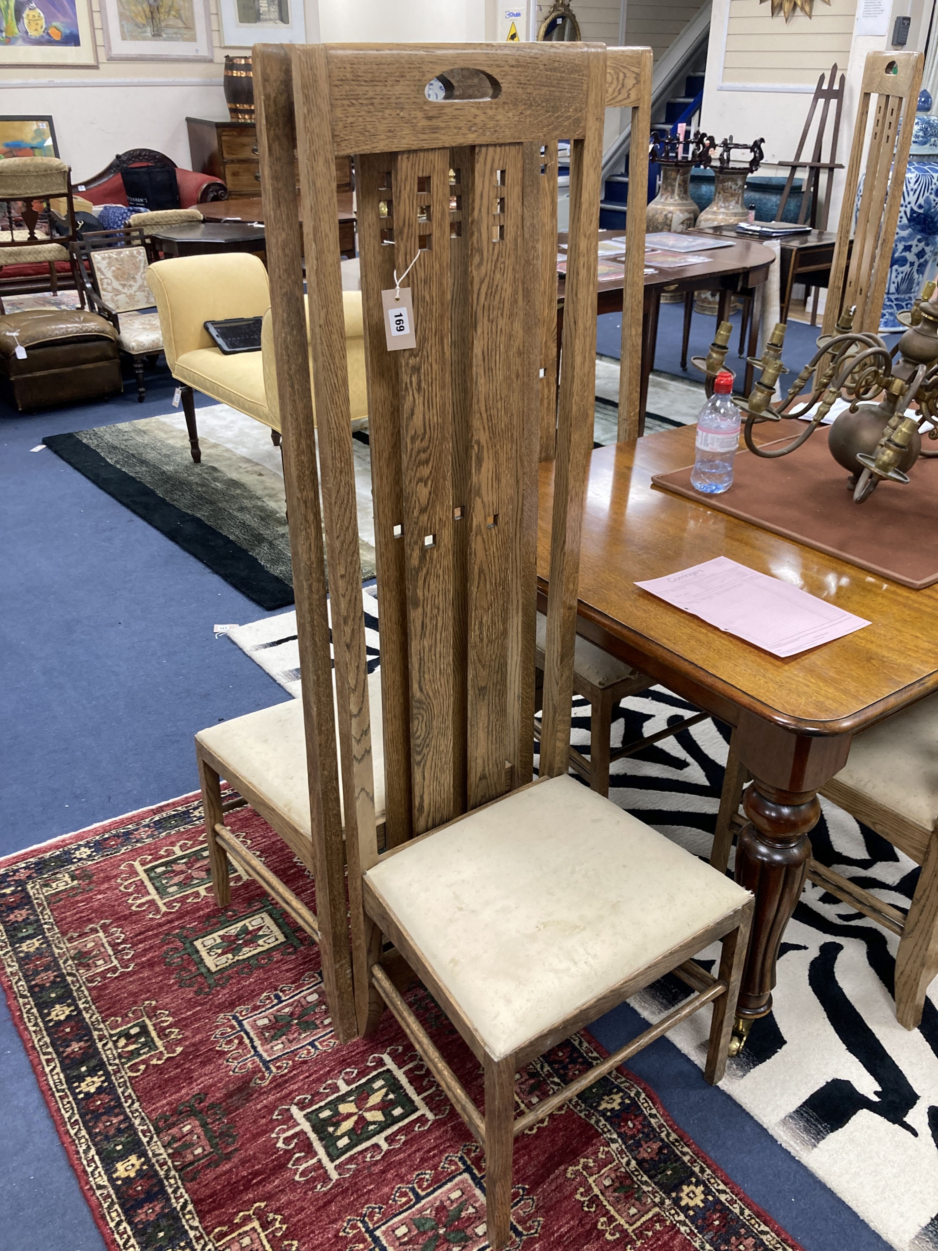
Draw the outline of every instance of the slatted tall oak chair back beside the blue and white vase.
M922 53L870 53L867 56L850 163L847 166L840 203L840 221L837 228L823 334L833 334L840 310L848 308L855 310L854 330L879 329L923 64ZM853 213L860 160L867 138L869 104L874 95L878 99L854 230ZM852 235L853 246L850 246Z

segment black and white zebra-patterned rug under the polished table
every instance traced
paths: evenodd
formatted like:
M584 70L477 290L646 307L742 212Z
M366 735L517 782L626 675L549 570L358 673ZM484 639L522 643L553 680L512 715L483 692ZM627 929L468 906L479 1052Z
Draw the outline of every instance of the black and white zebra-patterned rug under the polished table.
M378 600L363 590L369 669L376 668ZM229 631L291 694L299 693L294 613ZM688 704L663 687L623 701L613 744L683 719ZM589 706L575 699L573 743L589 751ZM610 797L668 838L708 857L729 731L700 722L613 764ZM918 868L865 826L822 799L814 856L879 898L907 908ZM895 1020L898 940L808 883L785 931L770 1016L732 1060L723 1088L898 1251L938 1248L938 1011L919 1030ZM703 963L708 963L704 953ZM715 960L714 960L715 962ZM648 1021L687 988L672 978L632 1001ZM703 1068L705 1013L668 1037ZM848 1251L848 1248L844 1248Z

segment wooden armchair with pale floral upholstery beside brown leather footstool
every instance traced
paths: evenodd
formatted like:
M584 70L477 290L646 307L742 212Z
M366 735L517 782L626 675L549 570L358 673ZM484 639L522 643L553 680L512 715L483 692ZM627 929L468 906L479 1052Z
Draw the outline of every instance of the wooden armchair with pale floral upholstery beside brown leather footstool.
M156 301L146 281L154 254L143 230L95 230L69 245L83 304L118 330L118 348L136 378L136 398L146 397L144 362L156 363L163 352Z

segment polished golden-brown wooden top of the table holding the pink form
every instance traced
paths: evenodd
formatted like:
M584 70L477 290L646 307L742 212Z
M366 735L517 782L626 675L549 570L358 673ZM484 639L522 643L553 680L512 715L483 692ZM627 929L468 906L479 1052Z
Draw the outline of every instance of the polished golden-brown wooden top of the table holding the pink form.
M788 425L768 427L779 438ZM790 729L849 733L938 691L938 584L910 590L747 522L653 488L694 460L695 427L593 452L580 557L580 614L653 676L679 673ZM897 488L902 489L902 488ZM547 578L553 463L540 467L538 573ZM869 500L864 504L874 504ZM922 542L928 542L922 535ZM779 659L634 585L725 555L872 622ZM655 674L658 669L658 674Z

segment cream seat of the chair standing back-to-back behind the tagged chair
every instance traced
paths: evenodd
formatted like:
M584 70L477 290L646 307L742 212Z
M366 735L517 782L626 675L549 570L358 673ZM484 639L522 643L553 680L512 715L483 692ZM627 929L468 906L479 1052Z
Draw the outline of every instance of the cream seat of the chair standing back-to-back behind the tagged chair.
M376 671L368 679L368 693L379 726L371 752L375 812L380 821L384 818L384 743L380 734L381 682ZM219 722L200 731L195 742L235 788L239 782L249 787L309 837L309 774L301 699Z

